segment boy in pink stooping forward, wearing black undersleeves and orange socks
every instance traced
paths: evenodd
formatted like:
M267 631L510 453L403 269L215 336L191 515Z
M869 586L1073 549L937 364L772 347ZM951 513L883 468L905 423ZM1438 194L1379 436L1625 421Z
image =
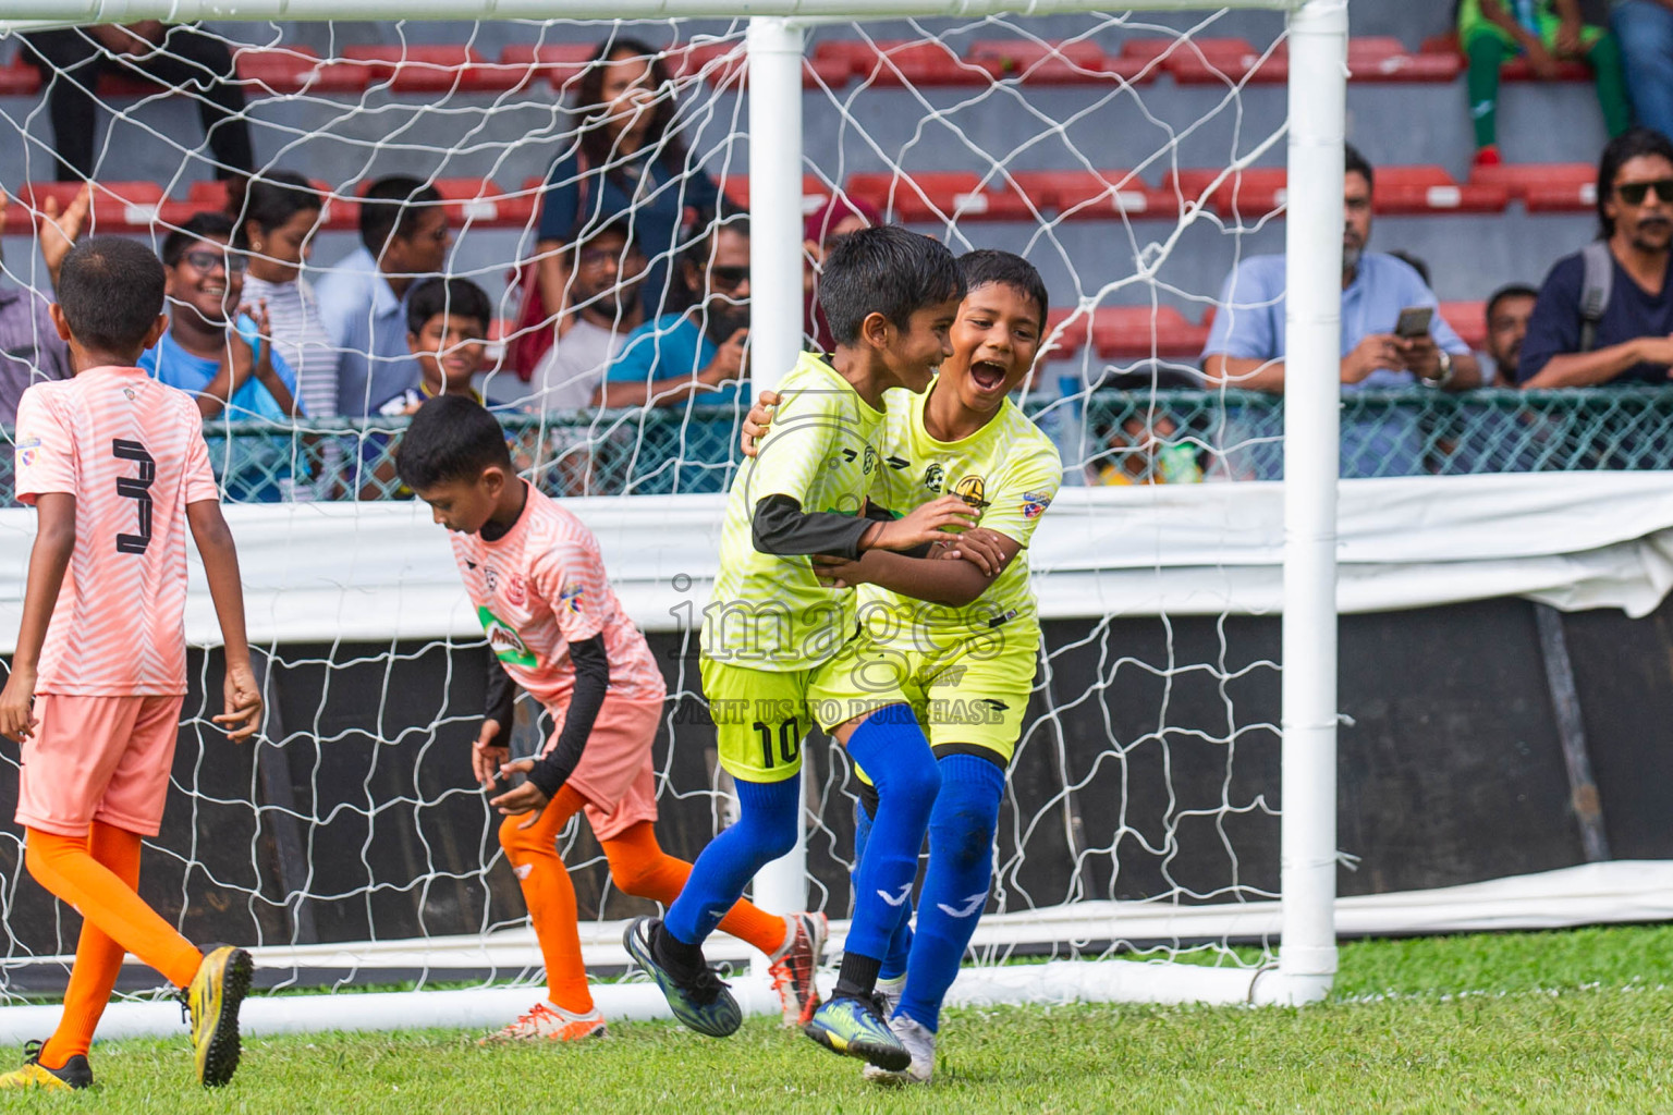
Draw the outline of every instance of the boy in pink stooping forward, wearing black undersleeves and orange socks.
M465 592L489 635L489 715L472 747L483 786L524 774L492 799L505 814L500 846L517 873L545 961L547 1001L485 1040L572 1041L604 1033L587 988L576 891L557 836L584 811L626 894L671 903L691 864L656 843L651 744L668 687L644 635L622 612L597 538L512 470L505 433L473 400L442 395L413 415L397 451L402 483L452 532ZM552 714L539 759L510 762L514 690ZM527 814L527 816L525 816ZM768 914L739 901L721 928L773 961L783 1016L800 1025L818 1006L813 975L823 914Z

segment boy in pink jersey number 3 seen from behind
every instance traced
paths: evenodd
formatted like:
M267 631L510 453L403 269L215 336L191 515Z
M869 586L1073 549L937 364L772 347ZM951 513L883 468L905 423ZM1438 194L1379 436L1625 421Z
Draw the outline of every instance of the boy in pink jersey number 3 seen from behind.
M226 712L214 720L234 741L261 722L202 418L189 395L134 366L169 324L164 283L161 261L132 241L72 249L52 324L75 376L32 386L17 408L17 495L35 505L38 532L0 732L22 744L28 873L84 921L64 1020L0 1088L92 1083L87 1048L124 951L186 990L197 1080L221 1085L238 1068L249 953L202 955L137 894L186 699L187 528L226 644Z

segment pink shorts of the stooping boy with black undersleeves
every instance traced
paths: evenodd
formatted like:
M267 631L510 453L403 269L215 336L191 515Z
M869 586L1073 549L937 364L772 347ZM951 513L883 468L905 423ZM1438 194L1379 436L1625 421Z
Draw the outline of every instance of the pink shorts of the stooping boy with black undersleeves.
M564 709L549 712L554 724L547 751L557 744L564 731ZM565 782L587 799L587 822L601 841L621 836L641 821L656 821L651 744L656 742L656 726L661 720L661 700L604 697L587 747L581 752L581 764Z

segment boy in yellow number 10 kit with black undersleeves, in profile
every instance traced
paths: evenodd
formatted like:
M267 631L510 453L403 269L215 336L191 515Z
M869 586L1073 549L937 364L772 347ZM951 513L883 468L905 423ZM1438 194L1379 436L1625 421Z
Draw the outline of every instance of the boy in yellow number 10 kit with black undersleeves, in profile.
M627 951L693 1030L724 1036L738 1005L703 960L701 944L756 871L796 841L801 809L801 737L813 722L806 694L813 670L853 630L853 593L823 585L810 555L855 558L908 550L974 518L957 500L930 501L902 520L863 513L883 468L878 441L883 393L923 391L945 358L964 283L939 242L898 227L845 237L825 264L820 301L836 353L803 354L785 376L778 423L733 481L721 537L714 597L704 608L703 689L716 724L721 766L738 787L739 817L704 848L663 921L641 918ZM847 719L847 717L843 717ZM883 899L857 904L833 1008L852 1023L853 1048L905 1068L905 1048L870 1000L877 965L893 931L902 886L912 886L917 849L935 796L929 741L912 722L838 732L878 779L882 843L910 846L912 866L880 881ZM882 863L882 858L878 859ZM870 966L870 976L863 971ZM858 966L858 976L852 971ZM858 985L858 995L850 988ZM815 1015L818 1020L820 1015ZM813 1023L810 1023L813 1025Z

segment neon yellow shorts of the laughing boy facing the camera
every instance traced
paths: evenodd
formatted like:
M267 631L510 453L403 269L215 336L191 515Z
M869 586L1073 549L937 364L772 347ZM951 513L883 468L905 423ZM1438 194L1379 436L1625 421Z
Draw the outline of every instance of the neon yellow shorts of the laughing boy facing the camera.
M831 729L905 702L937 756L975 747L1009 766L1034 689L1039 627L1007 625L1005 634L1005 640L878 639L862 630L813 672L806 690L813 719Z

